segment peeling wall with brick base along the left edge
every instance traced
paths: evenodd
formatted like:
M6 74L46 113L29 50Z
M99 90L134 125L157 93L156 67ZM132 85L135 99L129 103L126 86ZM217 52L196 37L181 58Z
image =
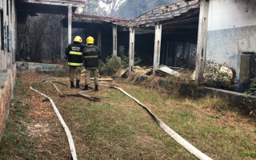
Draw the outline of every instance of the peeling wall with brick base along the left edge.
M10 99L13 98L16 64L16 8L14 0L0 0L0 141L9 115Z

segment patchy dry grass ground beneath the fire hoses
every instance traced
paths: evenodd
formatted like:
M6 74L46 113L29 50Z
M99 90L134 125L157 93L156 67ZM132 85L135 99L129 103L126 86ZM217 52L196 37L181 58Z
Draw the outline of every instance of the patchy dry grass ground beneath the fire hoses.
M66 133L49 101L30 85L68 78L18 74L10 116L0 143L0 159L72 159ZM83 83L82 79L82 83ZM104 84L110 84L106 82ZM152 90L122 81L111 82L138 98L188 142L213 159L255 159L256 125L235 110L215 110L226 102L172 98L165 90ZM76 94L56 84L66 94ZM54 100L74 138L78 159L197 159L174 142L136 102L118 90L99 87L90 96L61 98L50 83L34 87Z

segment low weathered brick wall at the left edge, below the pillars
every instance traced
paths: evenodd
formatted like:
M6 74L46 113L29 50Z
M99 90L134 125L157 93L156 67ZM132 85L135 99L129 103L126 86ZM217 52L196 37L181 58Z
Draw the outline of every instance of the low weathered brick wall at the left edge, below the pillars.
M0 141L9 115L10 99L13 98L15 79L15 64L6 73L0 73Z

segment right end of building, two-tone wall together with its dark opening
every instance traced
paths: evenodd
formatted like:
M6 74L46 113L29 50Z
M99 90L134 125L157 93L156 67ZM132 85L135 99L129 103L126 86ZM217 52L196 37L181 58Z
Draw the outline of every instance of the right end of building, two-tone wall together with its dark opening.
M208 3L206 61L235 70L237 90L247 90L256 77L256 2Z

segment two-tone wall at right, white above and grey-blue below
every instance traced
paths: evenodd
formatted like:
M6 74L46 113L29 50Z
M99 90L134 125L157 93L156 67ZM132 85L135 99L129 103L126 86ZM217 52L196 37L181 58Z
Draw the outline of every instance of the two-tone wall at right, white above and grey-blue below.
M206 60L237 70L239 52L256 52L256 2L211 0Z

